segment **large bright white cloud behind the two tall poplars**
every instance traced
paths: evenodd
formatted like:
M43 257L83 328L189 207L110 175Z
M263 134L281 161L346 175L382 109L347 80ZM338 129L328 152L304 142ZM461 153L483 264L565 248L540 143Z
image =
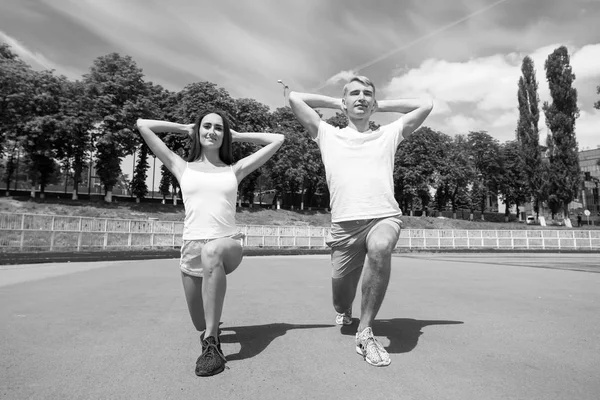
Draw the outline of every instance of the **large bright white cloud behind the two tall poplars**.
M547 45L528 54L536 68L540 110L545 100L551 100L544 63L557 47L559 45ZM580 49L571 47L569 53L577 76L575 87L580 107L586 110L593 99L597 99L593 82L600 77L600 44ZM525 55L495 54L462 62L428 59L417 68L393 77L382 92L387 98L432 96L436 107L429 124L448 134L485 130L502 142L512 140L518 119L517 83ZM599 114L597 111L581 112L577 120L577 138L582 145L595 146L594 143L599 141ZM539 127L545 131L543 112Z

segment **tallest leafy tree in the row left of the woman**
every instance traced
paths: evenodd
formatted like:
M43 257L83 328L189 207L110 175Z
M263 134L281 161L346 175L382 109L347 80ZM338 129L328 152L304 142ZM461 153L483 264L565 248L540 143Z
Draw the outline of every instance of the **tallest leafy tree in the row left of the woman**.
M147 95L143 73L129 56L111 53L98 57L84 76L94 101L98 121L96 170L104 185L105 201L112 201L112 188L121 175L121 158L139 143L133 131L143 108L138 102Z

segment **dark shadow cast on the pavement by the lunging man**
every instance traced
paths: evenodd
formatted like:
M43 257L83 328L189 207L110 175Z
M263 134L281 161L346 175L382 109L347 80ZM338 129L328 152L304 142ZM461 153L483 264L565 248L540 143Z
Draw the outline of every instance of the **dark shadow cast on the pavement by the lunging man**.
M445 320L418 320L411 318L379 319L373 322L373 333L376 337L387 337L390 340L386 347L388 353L408 353L419 343L419 337L423 334L421 329L430 325L459 325L463 321ZM356 334L358 319L352 320L352 325L341 327L344 335Z

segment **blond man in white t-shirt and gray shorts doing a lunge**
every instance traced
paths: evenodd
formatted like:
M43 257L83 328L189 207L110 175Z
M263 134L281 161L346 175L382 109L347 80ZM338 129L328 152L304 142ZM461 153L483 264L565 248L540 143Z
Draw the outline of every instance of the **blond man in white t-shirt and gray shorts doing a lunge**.
M341 99L291 92L290 106L321 150L331 194L333 306L338 325L352 324L352 303L362 274L362 300L356 351L375 366L390 364L373 336L372 324L390 279L392 251L400 235L402 212L394 198L394 155L398 144L427 118L431 100L375 100L375 86L356 76ZM348 126L322 121L315 108L341 109ZM372 131L374 112L398 112L398 120Z

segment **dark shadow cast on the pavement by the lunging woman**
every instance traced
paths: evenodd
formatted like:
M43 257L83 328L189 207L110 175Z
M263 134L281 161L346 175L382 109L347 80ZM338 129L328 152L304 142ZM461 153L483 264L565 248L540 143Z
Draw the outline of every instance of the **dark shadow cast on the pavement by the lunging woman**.
M276 338L292 329L331 328L333 325L294 325L285 323L221 328L221 343L239 343L240 351L228 354L227 361L245 360L260 354ZM231 333L229 333L231 332Z

